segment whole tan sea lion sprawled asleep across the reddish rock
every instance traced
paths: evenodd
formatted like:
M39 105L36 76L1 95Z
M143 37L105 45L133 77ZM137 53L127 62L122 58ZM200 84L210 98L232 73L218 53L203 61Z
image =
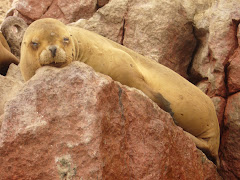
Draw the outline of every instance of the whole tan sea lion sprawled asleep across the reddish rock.
M81 61L113 80L143 91L219 166L219 124L211 99L186 79L124 46L88 30L40 19L26 30L20 69L29 80L42 66Z

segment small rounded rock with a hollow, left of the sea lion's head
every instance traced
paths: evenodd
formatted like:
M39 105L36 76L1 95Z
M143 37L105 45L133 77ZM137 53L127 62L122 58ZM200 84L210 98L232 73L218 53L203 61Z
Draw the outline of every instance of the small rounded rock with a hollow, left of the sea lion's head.
M27 24L22 18L9 16L2 25L1 31L6 38L11 52L18 58L20 58L20 48Z

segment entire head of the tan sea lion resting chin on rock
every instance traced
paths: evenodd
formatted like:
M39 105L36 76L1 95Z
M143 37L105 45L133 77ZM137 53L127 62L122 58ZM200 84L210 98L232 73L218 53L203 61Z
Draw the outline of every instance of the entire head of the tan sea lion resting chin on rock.
M73 56L74 44L67 27L55 19L40 19L24 34L20 68L24 79L28 80L41 66L64 67L73 61Z

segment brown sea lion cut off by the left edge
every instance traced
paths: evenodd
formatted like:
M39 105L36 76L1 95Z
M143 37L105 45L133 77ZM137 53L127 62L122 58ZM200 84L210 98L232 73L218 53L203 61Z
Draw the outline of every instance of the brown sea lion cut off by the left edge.
M11 63L18 65L19 60L11 52L5 37L0 32L0 74L6 75Z

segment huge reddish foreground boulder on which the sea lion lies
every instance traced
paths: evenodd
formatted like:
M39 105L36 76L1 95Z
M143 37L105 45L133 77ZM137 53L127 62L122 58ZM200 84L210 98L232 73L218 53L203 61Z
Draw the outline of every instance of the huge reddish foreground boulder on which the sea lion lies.
M220 179L168 113L79 62L7 103L0 163L2 179Z

